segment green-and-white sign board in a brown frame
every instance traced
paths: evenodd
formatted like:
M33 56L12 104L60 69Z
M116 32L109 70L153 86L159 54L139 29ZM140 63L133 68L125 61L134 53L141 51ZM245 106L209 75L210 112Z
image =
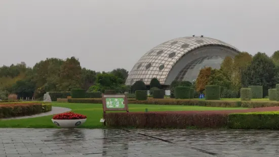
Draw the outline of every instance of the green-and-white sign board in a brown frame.
M103 111L116 111L116 110L126 110L128 109L128 99L125 94L102 94Z

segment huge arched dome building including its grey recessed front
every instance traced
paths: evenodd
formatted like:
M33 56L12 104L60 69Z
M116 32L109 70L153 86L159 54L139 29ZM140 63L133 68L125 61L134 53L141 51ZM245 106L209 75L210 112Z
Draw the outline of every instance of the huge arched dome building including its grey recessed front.
M240 53L235 47L210 37L179 37L145 53L130 71L126 85L141 80L149 85L157 78L161 85L172 81L194 81L204 67L220 68L226 56Z

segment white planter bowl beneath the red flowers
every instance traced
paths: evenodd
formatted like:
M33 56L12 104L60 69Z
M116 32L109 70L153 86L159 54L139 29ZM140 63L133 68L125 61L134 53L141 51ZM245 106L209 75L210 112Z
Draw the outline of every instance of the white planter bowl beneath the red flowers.
M76 128L86 122L87 119L81 120L53 120L52 122L61 128Z

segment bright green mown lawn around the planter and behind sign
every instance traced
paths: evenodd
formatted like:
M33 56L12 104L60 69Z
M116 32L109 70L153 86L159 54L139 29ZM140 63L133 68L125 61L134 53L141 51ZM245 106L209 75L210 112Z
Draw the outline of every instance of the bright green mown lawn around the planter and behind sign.
M75 113L81 113L87 116L87 122L80 128L102 128L100 119L102 118L103 108L101 104L74 104L74 103L52 103L53 106L71 108ZM202 107L202 106L180 106L180 105L143 105L129 104L129 111L181 111L181 110L231 110L246 108L228 108L228 107ZM19 120L0 120L0 128L58 128L52 121L52 115L34 117L30 119Z

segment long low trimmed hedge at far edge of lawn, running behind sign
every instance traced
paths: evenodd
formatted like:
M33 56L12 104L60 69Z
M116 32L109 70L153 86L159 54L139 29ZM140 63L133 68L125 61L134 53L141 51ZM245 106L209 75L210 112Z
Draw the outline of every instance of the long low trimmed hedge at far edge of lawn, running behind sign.
M102 99L68 99L70 103L100 104ZM225 100L191 100L191 99L147 99L136 100L128 98L128 104L158 104L158 105L187 105L208 107L272 107L279 106L277 101L225 101Z

